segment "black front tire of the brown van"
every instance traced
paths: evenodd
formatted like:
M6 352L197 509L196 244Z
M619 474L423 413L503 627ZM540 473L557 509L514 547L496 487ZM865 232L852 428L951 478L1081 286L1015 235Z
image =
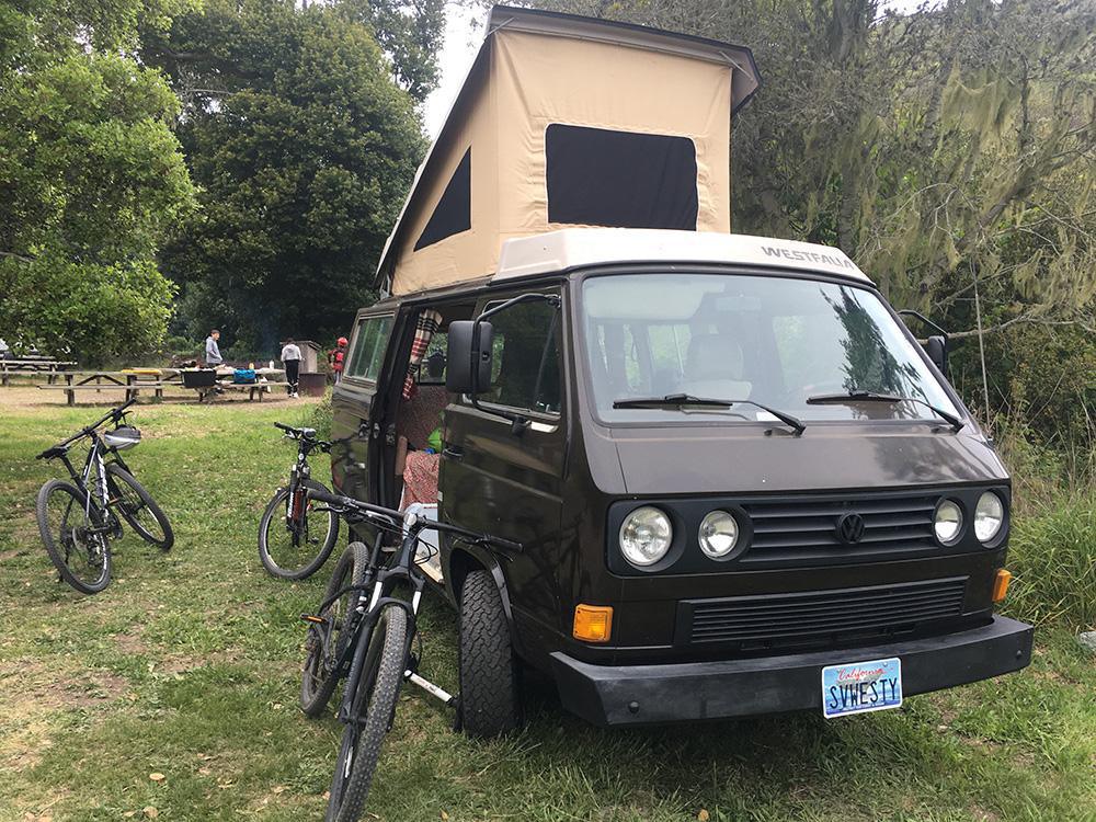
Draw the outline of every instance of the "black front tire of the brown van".
M460 722L470 737L521 724L517 661L502 595L489 571L471 571L460 594Z

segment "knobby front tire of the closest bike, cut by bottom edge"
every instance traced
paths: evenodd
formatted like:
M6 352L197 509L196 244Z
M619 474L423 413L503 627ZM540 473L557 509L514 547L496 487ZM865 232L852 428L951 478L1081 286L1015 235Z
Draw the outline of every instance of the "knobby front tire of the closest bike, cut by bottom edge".
M380 746L391 724L400 685L403 683L408 653L407 610L400 605L386 606L369 637L369 643L370 652L374 643L380 643L379 652L376 653L375 670L370 670L369 665L364 666L358 681L359 689L368 688L367 693L359 693L361 698L355 698L355 704L363 706L364 717L359 720L359 726L350 722L343 731L339 762L331 780L328 822L357 822L365 808L365 799L369 795L373 774L380 757ZM373 655L367 653L366 659Z

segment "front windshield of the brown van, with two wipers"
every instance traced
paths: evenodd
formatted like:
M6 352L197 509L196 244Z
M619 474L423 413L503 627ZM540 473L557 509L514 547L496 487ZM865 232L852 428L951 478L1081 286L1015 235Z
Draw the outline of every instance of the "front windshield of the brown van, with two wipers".
M867 288L772 275L613 274L584 281L582 315L597 416L606 422L774 420L747 404L614 408L675 393L751 400L803 421L939 420L920 402L808 402L850 391L960 413Z

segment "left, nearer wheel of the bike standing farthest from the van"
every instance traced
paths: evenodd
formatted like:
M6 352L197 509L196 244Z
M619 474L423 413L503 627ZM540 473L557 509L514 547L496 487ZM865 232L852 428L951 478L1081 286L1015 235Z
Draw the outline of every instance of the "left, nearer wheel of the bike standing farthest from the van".
M87 495L64 480L49 480L38 491L38 533L61 579L84 594L98 594L111 581L111 548L105 529L85 509Z

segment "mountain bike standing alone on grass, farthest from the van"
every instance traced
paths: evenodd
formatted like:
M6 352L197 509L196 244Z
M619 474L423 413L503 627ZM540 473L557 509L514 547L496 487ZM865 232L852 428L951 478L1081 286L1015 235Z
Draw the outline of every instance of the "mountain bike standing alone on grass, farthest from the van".
M38 491L38 532L61 579L85 594L98 594L110 583L110 544L122 536L123 521L161 550L175 541L168 517L122 459L121 452L140 443L140 432L125 424L126 409L134 402L111 409L37 457L60 459L68 469L69 480L52 479ZM106 423L114 427L100 432ZM68 453L84 438L91 447L78 472Z

